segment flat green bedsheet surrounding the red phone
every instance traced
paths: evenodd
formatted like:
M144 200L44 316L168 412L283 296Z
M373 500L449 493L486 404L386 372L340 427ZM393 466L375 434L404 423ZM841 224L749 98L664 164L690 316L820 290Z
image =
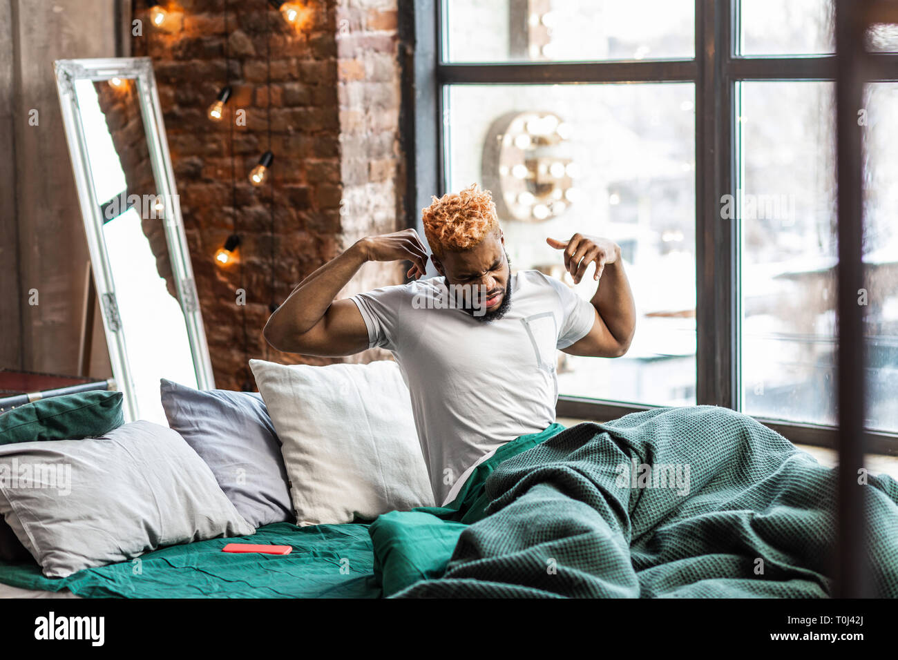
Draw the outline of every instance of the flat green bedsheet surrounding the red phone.
M289 555L222 552L226 543L291 545ZM173 545L62 578L33 560L0 562L0 582L25 589L69 589L89 598L377 598L366 524L289 523L252 536Z

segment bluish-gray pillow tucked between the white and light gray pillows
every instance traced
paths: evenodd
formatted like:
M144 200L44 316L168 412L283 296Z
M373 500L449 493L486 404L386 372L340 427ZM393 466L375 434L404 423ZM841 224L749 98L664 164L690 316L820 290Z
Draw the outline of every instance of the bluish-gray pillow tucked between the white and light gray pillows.
M163 379L169 426L196 450L247 522L293 522L280 441L255 392L194 390Z

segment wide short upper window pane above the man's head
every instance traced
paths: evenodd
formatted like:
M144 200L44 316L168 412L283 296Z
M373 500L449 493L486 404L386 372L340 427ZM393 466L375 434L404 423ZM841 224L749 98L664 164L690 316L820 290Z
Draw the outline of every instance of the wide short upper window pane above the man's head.
M691 59L694 0L444 0L449 62Z

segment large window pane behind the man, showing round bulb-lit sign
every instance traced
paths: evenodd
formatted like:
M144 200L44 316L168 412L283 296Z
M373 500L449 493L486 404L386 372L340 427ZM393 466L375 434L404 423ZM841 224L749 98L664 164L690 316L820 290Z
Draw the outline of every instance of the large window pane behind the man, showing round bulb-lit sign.
M615 359L559 352L559 393L695 403L695 89L692 84L452 85L449 189L492 190L512 268L538 268L585 299L546 237L621 245L636 337Z

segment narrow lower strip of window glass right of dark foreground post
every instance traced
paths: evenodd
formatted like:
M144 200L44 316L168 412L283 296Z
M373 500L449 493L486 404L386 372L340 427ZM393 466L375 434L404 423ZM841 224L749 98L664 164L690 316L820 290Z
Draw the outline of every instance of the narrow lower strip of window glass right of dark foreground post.
M864 126L867 426L898 430L898 83L867 85Z

